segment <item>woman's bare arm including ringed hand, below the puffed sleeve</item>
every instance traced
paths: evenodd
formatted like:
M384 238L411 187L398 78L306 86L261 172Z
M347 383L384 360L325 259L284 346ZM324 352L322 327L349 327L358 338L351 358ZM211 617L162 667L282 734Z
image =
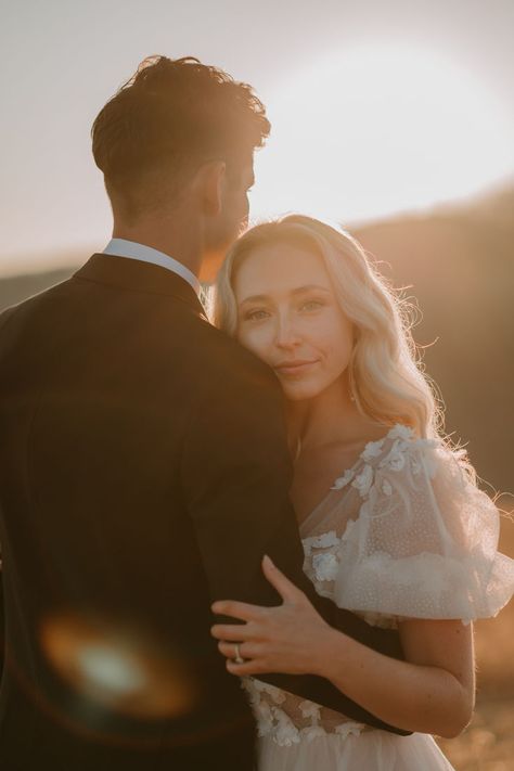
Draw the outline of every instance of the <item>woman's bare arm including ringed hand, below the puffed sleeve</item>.
M270 561L268 580L283 599L273 608L217 603L215 612L246 621L214 627L219 648L234 658L240 643L245 664L228 660L234 674L313 673L382 720L406 731L451 737L468 723L474 706L473 637L459 620L412 619L400 624L406 661L384 656L332 629L306 595ZM236 631L235 631L236 630ZM233 641L233 642L228 642Z

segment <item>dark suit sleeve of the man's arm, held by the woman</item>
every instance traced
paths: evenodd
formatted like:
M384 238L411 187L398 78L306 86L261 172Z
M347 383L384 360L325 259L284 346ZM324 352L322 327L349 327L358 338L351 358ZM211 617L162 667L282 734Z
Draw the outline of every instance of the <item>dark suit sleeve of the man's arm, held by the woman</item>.
M370 627L337 608L316 593L304 574L304 551L288 498L293 468L282 393L260 362L243 364L227 368L226 376L209 384L195 406L183 448L182 485L213 601L279 604L261 570L266 553L331 626L401 658L397 632ZM273 673L259 679L355 720L407 733L378 720L317 676Z

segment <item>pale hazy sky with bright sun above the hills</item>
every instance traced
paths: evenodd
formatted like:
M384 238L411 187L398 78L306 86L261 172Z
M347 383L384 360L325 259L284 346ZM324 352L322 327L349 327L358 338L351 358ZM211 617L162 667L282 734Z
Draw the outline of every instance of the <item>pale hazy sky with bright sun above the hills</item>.
M0 274L108 241L90 127L155 53L267 105L255 219L362 221L514 178L512 0L0 0Z

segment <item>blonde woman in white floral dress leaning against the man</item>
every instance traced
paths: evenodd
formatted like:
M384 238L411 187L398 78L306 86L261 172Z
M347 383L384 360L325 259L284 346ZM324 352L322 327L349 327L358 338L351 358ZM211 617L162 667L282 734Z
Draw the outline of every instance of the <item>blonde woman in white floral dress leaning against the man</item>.
M455 736L472 717L471 621L509 601L514 563L497 552L497 509L442 433L401 301L350 235L290 216L235 243L214 321L283 387L307 575L339 607L397 627L406 655L329 627L265 557L281 606L213 606L245 622L213 634L254 707L259 770L451 769L429 734ZM413 733L352 722L264 672L319 674Z

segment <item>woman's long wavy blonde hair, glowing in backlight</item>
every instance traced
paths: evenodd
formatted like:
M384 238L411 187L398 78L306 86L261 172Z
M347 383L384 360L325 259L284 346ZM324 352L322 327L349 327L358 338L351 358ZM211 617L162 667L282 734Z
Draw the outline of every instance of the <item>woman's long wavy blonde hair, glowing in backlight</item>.
M348 382L360 412L384 425L409 425L423 438L441 438L442 409L412 337L412 308L349 233L301 215L248 230L232 246L218 274L213 323L236 336L232 285L237 269L252 252L277 243L296 245L323 259L339 306L355 329Z

